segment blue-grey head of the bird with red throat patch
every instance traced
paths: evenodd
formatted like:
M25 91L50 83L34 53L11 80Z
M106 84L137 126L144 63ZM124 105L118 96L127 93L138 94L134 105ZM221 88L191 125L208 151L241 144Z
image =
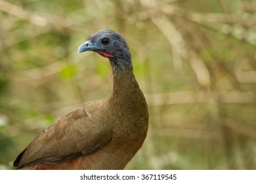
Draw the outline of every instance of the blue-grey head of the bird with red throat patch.
M132 67L129 47L116 31L103 29L91 35L77 50L78 53L87 51L97 52L100 56L110 59L112 65Z

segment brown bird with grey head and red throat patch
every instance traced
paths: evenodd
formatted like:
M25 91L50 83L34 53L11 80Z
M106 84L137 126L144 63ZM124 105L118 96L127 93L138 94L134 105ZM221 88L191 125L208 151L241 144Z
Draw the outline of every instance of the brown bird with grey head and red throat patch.
M113 75L110 97L85 103L47 127L13 162L16 169L119 170L142 146L148 105L133 73L131 52L120 33L102 29L77 52L107 58Z

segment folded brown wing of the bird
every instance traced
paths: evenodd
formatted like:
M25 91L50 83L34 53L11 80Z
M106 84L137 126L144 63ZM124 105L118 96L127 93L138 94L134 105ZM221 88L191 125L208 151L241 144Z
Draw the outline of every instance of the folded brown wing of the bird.
M104 102L75 108L45 129L14 161L20 168L37 163L56 163L89 154L111 140L107 117L99 115Z

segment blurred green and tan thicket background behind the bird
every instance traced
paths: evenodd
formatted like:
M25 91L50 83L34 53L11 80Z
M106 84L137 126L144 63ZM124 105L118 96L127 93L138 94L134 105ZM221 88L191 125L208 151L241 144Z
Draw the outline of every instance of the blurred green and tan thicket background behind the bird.
M0 169L43 129L112 93L99 29L127 40L148 136L126 169L256 169L256 1L0 0Z

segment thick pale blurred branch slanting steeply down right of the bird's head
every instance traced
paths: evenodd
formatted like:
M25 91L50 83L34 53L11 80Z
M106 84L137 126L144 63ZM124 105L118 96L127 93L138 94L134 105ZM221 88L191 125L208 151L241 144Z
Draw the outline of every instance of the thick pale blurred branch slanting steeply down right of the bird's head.
M182 38L181 32L177 30L175 25L171 23L171 21L165 15L165 12L162 11L165 7L158 7L156 1L140 1L142 5L150 12L148 12L148 16L152 20L152 22L160 29L160 31L165 35L167 40L171 43L171 49L173 52L173 65L175 69L181 70L182 68L182 58L188 59L190 61L190 65L194 70L194 73L197 76L198 83L202 86L209 88L211 84L210 75L205 63L198 58L197 54L190 49L190 53L188 53L188 48L186 42ZM172 12L178 12L179 14L184 14L184 10L181 8L174 8L169 6ZM170 10L170 9L169 9Z

